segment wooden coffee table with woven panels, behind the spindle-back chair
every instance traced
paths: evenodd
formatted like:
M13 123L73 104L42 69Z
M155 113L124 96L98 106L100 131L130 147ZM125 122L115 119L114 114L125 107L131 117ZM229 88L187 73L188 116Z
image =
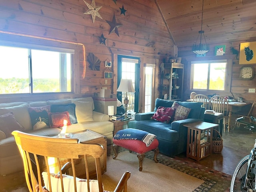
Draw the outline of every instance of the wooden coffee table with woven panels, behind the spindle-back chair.
M106 136L103 136L101 134L98 134L96 132L93 132L91 130L83 130L79 132L71 133L72 138L78 138L80 140L80 143L84 144L101 144L104 148L104 154L100 158L100 164L101 164L101 173L103 174L106 172L107 168L107 138ZM58 137L58 136L55 136ZM72 150L72 149L70 149ZM44 162L44 158L38 157L38 161L42 165L42 169L46 169L46 164ZM48 162L50 161L50 158L48 159ZM63 166L66 162L70 162L69 159L61 159L60 160L61 166ZM87 156L88 161L88 169L89 169L89 175L90 178L96 176L96 167L95 167L95 160L92 156ZM58 163L56 159L51 159L51 169L53 173L57 173L58 170ZM84 156L80 156L78 159L74 161L75 169L76 169L76 176L78 178L86 178L86 172L84 170L85 162L84 162ZM70 168L67 172L68 175L72 176L72 169Z

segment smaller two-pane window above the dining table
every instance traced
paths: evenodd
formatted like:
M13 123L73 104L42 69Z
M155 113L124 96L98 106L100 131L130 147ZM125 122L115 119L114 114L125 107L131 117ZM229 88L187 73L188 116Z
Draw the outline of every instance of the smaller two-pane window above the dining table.
M191 89L226 91L227 69L227 60L191 62Z

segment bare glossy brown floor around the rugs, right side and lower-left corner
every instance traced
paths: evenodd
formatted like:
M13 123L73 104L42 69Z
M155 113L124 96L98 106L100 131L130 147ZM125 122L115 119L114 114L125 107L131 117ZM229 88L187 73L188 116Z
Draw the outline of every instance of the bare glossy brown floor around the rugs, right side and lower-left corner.
M256 132L251 133L245 128L235 128L230 132L223 133L222 138L224 147L220 154L213 153L211 156L208 156L199 162L196 162L191 158L186 158L185 153L179 154L178 157L232 175L240 159L250 153L250 150L254 145ZM8 187L10 187L10 185L13 186L14 183L18 188L18 185L22 180L24 181L23 172L6 175L4 177L0 176L0 192L12 191L8 190Z

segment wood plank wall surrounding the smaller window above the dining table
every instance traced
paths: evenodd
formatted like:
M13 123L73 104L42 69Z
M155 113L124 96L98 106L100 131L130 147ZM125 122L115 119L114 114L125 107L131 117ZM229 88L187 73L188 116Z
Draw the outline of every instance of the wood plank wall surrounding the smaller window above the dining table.
M244 40L239 40L235 42L223 42L218 44L210 44L210 51L206 53L206 57L209 57L211 59L219 59L220 56L214 56L214 50L215 46L219 45L226 45L226 52L225 57L226 58L232 58L233 64L232 64L232 76L231 76L231 90L230 92L226 92L225 95L228 96L234 96L242 97L244 101L246 102L254 102L256 100L256 93L248 93L249 88L256 88L256 64L250 64L254 68L254 78L252 80L241 80L239 78L240 74L240 68L242 65L239 64L239 54L238 59L236 59L236 55L232 54L232 51L230 48L234 48L236 50L240 50L240 43L243 42L254 42L256 39L250 39L250 37L246 38L244 37ZM178 48L178 56L182 57L182 62L186 64L187 60L193 60L193 58L196 58L196 55L191 51L192 47L181 47ZM246 64L246 66L249 66L249 64ZM188 67L185 67L186 74L188 72ZM185 84L184 84L185 90L184 90L184 100L188 99L190 96L190 74L186 76ZM198 92L199 94L205 94L203 92ZM210 94L213 94L214 92L210 92Z

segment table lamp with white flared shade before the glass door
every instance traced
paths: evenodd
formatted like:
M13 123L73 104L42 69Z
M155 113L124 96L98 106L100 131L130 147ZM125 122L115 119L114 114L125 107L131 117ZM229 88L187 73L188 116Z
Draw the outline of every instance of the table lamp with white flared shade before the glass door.
M121 79L119 87L117 88L116 91L120 92L126 92L126 96L124 98L124 106L125 106L125 115L124 118L127 118L127 106L129 104L129 100L127 97L127 92L135 92L133 86L132 86L132 80L131 79Z

